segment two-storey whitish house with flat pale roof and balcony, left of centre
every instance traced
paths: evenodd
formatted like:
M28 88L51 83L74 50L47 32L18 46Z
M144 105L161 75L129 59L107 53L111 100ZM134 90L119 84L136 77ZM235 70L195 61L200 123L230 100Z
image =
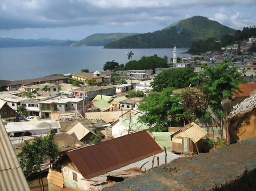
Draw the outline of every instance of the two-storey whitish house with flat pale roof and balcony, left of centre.
M83 99L69 97L55 97L49 100L41 101L40 117L50 117L50 113L58 113L65 111L79 111L83 115Z

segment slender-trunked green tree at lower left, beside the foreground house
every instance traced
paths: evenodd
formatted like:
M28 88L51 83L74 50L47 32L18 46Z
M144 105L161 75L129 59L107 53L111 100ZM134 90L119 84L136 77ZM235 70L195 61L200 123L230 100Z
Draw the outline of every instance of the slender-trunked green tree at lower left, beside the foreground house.
M26 176L37 173L41 190L44 190L43 178L38 176L38 173L41 175L41 166L45 164L47 158L53 161L58 157L58 144L54 142L54 135L54 131L51 131L45 138L35 137L32 143L25 140L20 153L17 154Z

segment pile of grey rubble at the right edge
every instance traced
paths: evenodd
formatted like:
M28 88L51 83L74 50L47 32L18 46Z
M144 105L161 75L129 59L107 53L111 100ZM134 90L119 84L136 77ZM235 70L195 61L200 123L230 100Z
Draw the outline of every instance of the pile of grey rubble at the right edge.
M233 111L230 112L229 118L232 118L233 116L247 113L251 111L253 108L256 107L256 93L249 98L246 98L241 102L240 104L237 104L233 107Z

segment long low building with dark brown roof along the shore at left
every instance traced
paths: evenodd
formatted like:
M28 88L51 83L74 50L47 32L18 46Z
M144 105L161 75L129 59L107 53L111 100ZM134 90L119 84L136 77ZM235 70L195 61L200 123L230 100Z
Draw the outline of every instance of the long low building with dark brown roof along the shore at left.
M24 85L35 85L35 84L45 84L45 83L67 83L68 78L65 76L59 75L51 75L42 78L33 78L27 80L0 80L0 87L4 89L4 91L17 90Z

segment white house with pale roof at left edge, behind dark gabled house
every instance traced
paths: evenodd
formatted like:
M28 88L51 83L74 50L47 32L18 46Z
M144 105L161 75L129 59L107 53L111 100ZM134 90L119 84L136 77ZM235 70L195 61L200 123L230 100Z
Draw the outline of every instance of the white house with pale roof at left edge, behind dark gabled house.
M18 107L20 106L20 102L22 102L26 99L27 98L22 98L20 96L9 94L6 91L0 92L0 100L6 102L6 104L8 106L10 106L16 112L18 111Z

